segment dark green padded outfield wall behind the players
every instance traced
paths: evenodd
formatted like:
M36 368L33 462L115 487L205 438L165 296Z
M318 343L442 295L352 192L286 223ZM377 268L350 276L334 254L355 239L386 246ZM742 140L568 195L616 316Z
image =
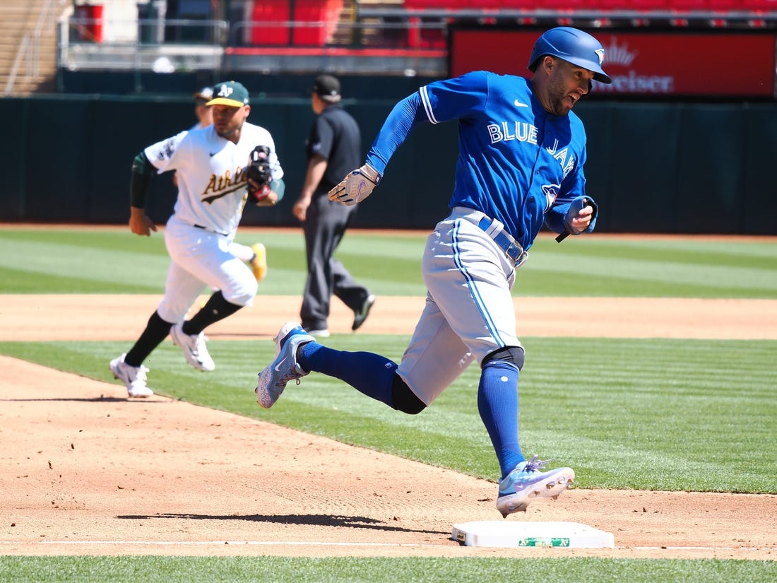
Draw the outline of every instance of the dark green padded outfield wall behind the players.
M395 99L346 102L364 150ZM777 103L595 100L575 111L588 134L587 190L599 232L777 233ZM0 220L125 223L131 162L145 146L194 123L188 96L57 95L0 99L4 138ZM274 135L286 197L247 208L244 225L296 225L313 113L306 98L254 99L249 120ZM417 127L360 205L356 226L429 229L447 211L458 152L453 123ZM171 176L152 180L149 215L165 222Z

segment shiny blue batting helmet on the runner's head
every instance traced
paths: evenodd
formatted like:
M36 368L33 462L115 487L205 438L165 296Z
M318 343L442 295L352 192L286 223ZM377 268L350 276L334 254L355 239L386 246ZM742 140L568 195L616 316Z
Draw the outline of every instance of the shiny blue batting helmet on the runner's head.
M570 26L556 26L543 33L531 50L529 71L535 72L537 61L546 54L588 69L599 82L612 82L601 68L602 62L605 61L605 49L598 40L582 30Z

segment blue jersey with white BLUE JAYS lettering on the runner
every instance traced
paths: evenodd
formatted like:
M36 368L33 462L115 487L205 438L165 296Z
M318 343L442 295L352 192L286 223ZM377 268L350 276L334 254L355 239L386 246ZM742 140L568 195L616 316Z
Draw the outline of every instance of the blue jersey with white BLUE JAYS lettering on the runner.
M545 111L528 79L477 71L432 82L418 96L431 123L458 119L451 207L497 218L528 249L554 205L566 211L585 194L583 123L571 111L563 117ZM380 150L380 138L373 150Z

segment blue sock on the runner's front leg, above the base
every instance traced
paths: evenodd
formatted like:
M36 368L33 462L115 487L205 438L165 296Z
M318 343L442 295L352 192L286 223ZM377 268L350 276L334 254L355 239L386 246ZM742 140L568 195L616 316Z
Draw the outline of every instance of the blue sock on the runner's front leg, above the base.
M518 444L518 367L506 361L483 366L478 412L497 453L501 477L526 459Z

